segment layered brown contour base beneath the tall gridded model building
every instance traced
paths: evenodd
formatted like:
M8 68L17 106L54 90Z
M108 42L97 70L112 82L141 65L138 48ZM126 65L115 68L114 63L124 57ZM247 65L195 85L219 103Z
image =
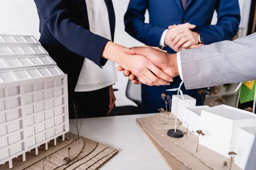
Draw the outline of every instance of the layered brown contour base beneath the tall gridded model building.
M66 133L66 138L57 139L57 144L53 141L48 143L48 150L45 146L38 147L38 155L35 149L26 153L26 161L22 156L12 160L12 170L43 170L41 156L52 156L52 159L45 161L44 170L98 170L103 164L111 159L118 152L117 149L108 147L105 144L78 136L73 133ZM68 157L70 147L71 161L65 164L64 157ZM0 165L0 170L9 170L8 163Z

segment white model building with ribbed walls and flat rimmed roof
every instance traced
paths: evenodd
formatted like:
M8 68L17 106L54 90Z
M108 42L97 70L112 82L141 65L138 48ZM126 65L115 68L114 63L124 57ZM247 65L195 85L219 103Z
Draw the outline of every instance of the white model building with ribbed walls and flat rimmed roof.
M201 145L227 156L236 147L239 127L256 126L256 115L227 105L218 105L201 112L201 130L206 134Z

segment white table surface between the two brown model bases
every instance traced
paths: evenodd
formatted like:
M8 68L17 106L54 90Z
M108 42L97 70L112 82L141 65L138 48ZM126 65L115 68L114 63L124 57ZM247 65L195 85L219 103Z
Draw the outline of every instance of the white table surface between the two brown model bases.
M170 170L136 122L153 114L82 119L80 135L114 147L119 152L100 170ZM70 132L76 127L70 121Z

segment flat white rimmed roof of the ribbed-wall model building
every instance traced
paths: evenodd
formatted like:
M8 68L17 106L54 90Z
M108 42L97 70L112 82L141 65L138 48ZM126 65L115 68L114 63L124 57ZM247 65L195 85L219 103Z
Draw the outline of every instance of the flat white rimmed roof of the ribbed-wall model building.
M232 120L256 118L256 115L254 115L253 113L238 108L233 108L227 105L218 105L209 109L205 109L204 111L214 113L216 115L223 116Z

